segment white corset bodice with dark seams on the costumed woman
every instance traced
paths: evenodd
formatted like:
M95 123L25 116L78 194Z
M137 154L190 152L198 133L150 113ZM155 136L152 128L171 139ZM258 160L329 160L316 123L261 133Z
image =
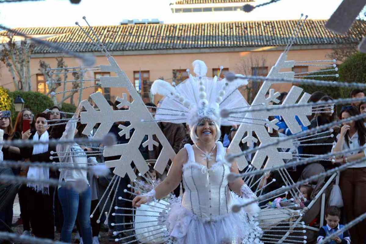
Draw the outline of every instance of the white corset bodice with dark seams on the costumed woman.
M195 162L191 145L184 146L188 161L183 165L182 206L206 221L231 213L233 205L227 180L230 165L224 161L226 149L221 142L216 142L216 147L216 162L208 169Z

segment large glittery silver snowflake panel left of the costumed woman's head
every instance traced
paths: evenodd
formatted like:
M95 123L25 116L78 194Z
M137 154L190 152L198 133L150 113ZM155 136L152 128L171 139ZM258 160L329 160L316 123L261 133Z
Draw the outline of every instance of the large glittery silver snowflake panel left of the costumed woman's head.
M119 128L121 129L119 135L126 135L126 138L128 139L130 137L131 129L135 128L130 141L126 144L106 146L103 153L104 157L118 155L121 155L121 157L116 160L106 161L105 164L109 168L115 168L113 173L118 176L124 177L127 173L131 180L134 180L137 177L131 166L132 162L134 162L138 172L145 174L147 170L149 170L149 166L142 157L139 146L142 143L143 138L147 135L148 139L142 146L147 146L150 151L153 150L153 146L158 146L158 142L156 142L153 137L155 135L163 146L163 149L157 159L154 169L159 173L163 173L169 159L173 160L175 157L175 152L157 123L154 121L149 110L147 110L141 96L132 86L132 83L127 78L126 74L119 68L115 59L109 57L108 62L110 65L100 65L101 71L115 72L117 76L101 76L101 87L123 87L127 89L133 101L129 102L127 100L127 94L124 93L122 94L122 97L116 98L116 100L120 102L118 107L120 108L127 105L129 109L113 110L101 93L97 92L91 94L90 97L99 108L99 111L96 111L89 102L82 102L84 108L87 110L87 112L81 113L81 123L87 124L83 134L88 135L93 130L94 126L100 123L93 139L102 138L108 134L113 123L129 121L131 123L129 126L119 125Z

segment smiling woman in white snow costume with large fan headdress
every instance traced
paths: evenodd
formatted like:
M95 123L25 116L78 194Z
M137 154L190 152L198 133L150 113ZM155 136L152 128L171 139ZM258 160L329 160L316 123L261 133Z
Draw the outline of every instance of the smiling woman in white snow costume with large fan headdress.
M247 105L237 90L247 81L229 83L217 80L216 76L208 78L202 61L196 60L193 66L195 77L190 75L176 87L157 80L152 92L165 96L155 119L188 123L195 144L186 144L174 158L168 177L149 193L135 197L132 205L140 207L164 198L182 181L185 189L182 199L173 201L162 219L171 243L260 243L262 230L253 221L253 214L259 210L257 204L232 212L234 204L253 200L256 195L241 178L228 181L228 174L239 173L238 166L225 161L228 149L218 142L221 124L238 123L221 119L220 110Z

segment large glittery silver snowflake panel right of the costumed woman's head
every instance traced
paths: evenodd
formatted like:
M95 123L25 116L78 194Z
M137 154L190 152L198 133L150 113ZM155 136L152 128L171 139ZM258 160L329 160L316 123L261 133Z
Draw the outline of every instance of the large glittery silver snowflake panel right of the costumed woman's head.
M283 68L292 68L294 67L294 61L286 61L287 53L283 52L276 64L271 68L267 78L294 78L295 72L280 72ZM254 98L252 106L255 105L255 108L258 108L258 105L267 106L268 110L250 112L246 115L246 117L250 117L253 121L264 121L268 120L269 116L282 116L284 121L286 122L290 131L295 134L301 132L301 127L299 123L296 121L295 116L298 116L303 125L310 125L310 121L307 119L307 115L311 115L311 107L306 106L301 109L298 108L283 108L283 105L296 104L296 101L299 100L298 104L306 103L310 94L304 93L301 96L303 89L297 86L292 86L291 90L288 92L284 102L282 105L272 105L272 102L278 103L279 100L277 97L280 95L278 92L275 93L274 89L270 89L270 86L273 82L265 80L261 86L261 89L257 93ZM268 98L266 98L266 94L269 92ZM262 105L262 106L263 106ZM270 108L279 108L270 110ZM257 143L258 140L260 143L268 144L273 143L279 140L279 138L272 138L268 132L272 132L273 129L278 129L276 126L276 122L278 120L272 120L268 123L243 123L240 125L238 131L236 132L229 149L231 153L240 153L241 149L239 147L239 143L247 143L248 146L253 146L253 143ZM267 128L268 127L268 128ZM247 132L247 136L243 138L244 134ZM257 138L254 138L253 132L257 135ZM242 139L243 138L243 139ZM253 160L251 164L255 166L255 168L260 169L264 162L266 161L265 167L279 166L284 164L284 159L292 159L292 154L287 152L280 152L278 148L290 149L294 147L292 140L287 140L284 142L280 142L275 146L269 146L261 150L257 150L254 154ZM266 160L267 158L267 160ZM246 158L240 157L238 160L239 169L242 170L248 165Z

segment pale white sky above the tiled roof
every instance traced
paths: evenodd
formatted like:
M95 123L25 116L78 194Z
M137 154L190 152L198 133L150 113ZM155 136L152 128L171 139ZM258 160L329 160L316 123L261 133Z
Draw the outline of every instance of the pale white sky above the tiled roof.
M257 0L255 4L269 0ZM243 11L172 14L171 0L69 0L0 3L0 23L8 27L74 26L86 16L90 25L119 25L124 19L159 19L164 23L222 22L247 20L328 19L342 0L281 0Z

